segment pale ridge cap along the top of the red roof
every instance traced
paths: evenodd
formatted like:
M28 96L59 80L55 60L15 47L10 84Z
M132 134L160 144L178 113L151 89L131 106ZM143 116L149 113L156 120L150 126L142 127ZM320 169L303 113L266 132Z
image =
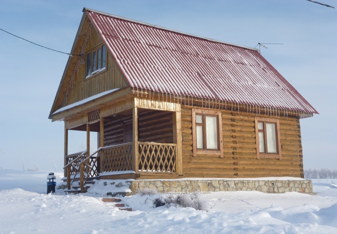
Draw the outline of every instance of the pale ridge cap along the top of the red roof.
M255 49L255 48L252 48L252 47L248 47L248 46L244 46L244 45L238 45L238 44L234 44L234 43L226 42L226 41L220 41L220 40L216 40L216 39L212 39L212 38L208 38L208 37L197 36L197 35L194 35L194 34L185 33L185 32L181 32L181 31L174 30L174 29L169 29L169 28L158 26L158 25L145 23L145 22L142 22L142 21L132 20L132 19L129 19L129 18L125 18L125 17L122 17L122 16L114 15L114 14L109 14L109 13L106 13L106 12L90 9L90 8L87 8L87 7L83 8L83 12L85 12L85 11L91 11L91 12L94 12L94 13L97 13L97 14L103 14L103 15L106 15L106 16L110 16L110 17L113 17L113 18L120 19L120 20L125 20L125 21L136 23L136 24L142 24L142 25L153 27L153 28L171 31L171 32L175 32L175 33L179 33L179 34L183 34L183 35L187 35L187 36L191 36L191 37L196 37L196 38L200 38L200 39L204 39L204 40L208 40L208 41L213 41L213 42L217 42L217 43L233 45L233 46L237 46L237 47L241 47L241 48L245 48L245 49L250 49L250 50L253 50L253 51L258 51L258 49Z

